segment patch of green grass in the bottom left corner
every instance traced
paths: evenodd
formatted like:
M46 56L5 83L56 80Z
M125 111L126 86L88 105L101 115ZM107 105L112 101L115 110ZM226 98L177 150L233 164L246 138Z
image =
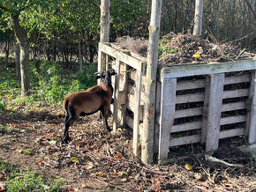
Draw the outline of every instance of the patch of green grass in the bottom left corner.
M47 181L41 175L34 174L29 170L19 170L0 160L1 179L5 183L7 191L63 191L60 188L63 179Z

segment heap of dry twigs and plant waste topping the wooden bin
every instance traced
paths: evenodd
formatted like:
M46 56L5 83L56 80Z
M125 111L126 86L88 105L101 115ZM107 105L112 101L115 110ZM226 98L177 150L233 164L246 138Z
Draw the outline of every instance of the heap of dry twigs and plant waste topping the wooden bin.
M144 57L147 57L147 42L143 38L129 36L117 38L116 41L120 48ZM255 54L245 52L245 49L240 49L233 43L212 43L191 33L169 33L159 41L158 64L229 62L255 58Z

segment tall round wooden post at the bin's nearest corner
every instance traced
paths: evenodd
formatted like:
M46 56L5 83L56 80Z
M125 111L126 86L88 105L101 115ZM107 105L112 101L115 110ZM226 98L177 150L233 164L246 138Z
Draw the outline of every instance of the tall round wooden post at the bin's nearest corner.
M161 10L162 0L152 0L150 26L148 26L149 42L147 51L147 85L145 90L146 102L143 121L144 134L142 136L141 148L141 160L145 163L152 163L154 156L155 90Z

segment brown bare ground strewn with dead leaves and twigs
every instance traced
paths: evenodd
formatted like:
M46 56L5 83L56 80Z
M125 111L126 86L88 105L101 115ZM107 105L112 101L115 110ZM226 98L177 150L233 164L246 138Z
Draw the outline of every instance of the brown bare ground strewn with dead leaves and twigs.
M72 142L62 144L64 114L61 108L41 112L0 115L0 159L21 169L27 167L49 179L64 178L68 191L252 191L256 188L256 162L236 147L221 147L214 156L242 168L196 158L166 166L145 165L132 154L132 130L111 133L94 115L80 118L70 129ZM61 113L60 113L61 112ZM109 118L110 124L110 118ZM26 154L24 150L32 151ZM180 156L184 151L180 151ZM187 170L190 164L192 170Z

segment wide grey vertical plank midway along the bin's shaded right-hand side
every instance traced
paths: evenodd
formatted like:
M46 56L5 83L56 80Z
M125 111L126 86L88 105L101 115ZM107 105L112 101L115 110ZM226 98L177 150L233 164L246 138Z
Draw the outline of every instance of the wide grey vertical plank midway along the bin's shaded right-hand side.
M224 73L211 75L207 116L206 151L215 151L219 146L224 77Z

